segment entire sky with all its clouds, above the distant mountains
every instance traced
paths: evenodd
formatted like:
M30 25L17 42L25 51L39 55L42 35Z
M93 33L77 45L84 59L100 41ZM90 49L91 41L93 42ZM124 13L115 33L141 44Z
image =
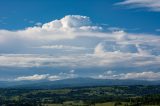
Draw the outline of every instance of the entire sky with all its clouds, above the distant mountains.
M0 80L160 80L158 0L1 0Z

